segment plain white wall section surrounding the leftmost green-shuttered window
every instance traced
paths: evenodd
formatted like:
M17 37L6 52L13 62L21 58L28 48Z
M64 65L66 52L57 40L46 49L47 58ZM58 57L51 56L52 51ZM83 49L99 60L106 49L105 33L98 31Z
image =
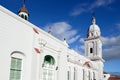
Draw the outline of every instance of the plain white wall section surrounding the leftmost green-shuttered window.
M14 14L13 14L14 15ZM14 51L25 54L24 80L30 80L33 45L32 28L10 16L0 7L0 79L9 80L11 54Z

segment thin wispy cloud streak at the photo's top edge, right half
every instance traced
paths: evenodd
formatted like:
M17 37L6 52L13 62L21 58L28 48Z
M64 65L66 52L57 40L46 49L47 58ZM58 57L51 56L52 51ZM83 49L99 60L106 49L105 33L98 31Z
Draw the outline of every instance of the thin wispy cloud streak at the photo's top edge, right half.
M80 15L83 12L89 12L92 11L95 8L108 6L109 4L112 4L114 0L95 0L93 3L82 3L73 9L73 11L70 13L71 16L77 16Z

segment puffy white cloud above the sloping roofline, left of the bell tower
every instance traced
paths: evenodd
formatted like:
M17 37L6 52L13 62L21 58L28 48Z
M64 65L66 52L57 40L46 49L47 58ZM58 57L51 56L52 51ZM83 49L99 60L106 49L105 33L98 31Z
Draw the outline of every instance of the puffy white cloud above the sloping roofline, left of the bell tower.
M80 36L77 35L77 30L72 29L72 26L66 22L56 22L45 27L48 31L51 28L51 34L60 40L66 38L69 44L74 43Z

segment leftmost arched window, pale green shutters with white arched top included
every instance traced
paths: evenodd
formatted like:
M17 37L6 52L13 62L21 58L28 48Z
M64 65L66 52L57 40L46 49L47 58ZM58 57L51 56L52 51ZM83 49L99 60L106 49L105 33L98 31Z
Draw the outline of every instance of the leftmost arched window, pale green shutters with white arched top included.
M10 80L21 80L24 56L21 53L11 54Z

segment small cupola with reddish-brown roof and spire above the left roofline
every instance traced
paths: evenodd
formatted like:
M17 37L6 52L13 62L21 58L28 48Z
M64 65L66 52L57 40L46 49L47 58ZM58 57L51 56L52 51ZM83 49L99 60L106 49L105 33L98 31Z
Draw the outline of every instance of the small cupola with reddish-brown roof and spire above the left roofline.
M29 13L28 13L28 10L25 6L25 0L23 0L23 4L22 4L22 7L19 9L18 11L18 15L25 19L25 20L28 20L28 17L29 17Z

